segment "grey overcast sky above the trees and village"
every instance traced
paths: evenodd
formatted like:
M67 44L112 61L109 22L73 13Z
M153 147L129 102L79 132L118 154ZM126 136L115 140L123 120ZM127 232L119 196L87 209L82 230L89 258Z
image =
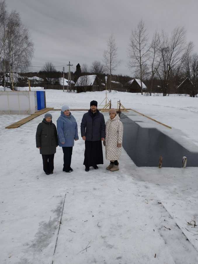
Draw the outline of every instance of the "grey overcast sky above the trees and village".
M156 28L171 33L174 27L184 26L187 41L193 41L198 52L197 0L6 0L6 4L8 11L20 13L29 28L35 49L32 66L51 61L62 70L70 60L75 71L77 63L102 62L113 32L121 60L115 73L132 76L127 47L131 30L141 18L150 38Z

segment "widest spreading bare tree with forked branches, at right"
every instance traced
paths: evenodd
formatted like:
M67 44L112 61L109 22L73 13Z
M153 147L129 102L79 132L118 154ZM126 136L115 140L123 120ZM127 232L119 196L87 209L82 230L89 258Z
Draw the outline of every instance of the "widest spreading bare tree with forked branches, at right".
M179 72L187 55L192 50L192 43L186 45L185 30L175 28L169 37L162 31L159 41L161 63L157 75L161 81L163 96L166 96L171 75Z

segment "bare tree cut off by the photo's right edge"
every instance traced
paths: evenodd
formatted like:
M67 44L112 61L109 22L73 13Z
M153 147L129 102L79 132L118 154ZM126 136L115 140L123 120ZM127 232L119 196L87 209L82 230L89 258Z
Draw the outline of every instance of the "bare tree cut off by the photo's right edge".
M192 86L190 89L190 96L197 97L198 87L198 54L194 53L188 55L184 62L184 70L186 77L190 80Z

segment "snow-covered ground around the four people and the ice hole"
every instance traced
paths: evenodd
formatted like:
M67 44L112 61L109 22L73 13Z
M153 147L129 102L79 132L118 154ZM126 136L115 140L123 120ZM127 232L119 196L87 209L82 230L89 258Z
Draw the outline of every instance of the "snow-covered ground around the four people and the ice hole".
M105 92L45 91L47 107L56 109L62 104L88 109L93 99L100 108L105 98ZM120 99L126 108L172 126L171 130L139 116L145 126L157 127L178 141L182 137L196 150L197 98L122 92L107 96L113 107ZM79 128L84 112L72 112ZM50 113L56 124L60 112ZM79 129L72 154L74 171L62 172L58 147L54 174L45 175L35 145L36 128L44 115L5 129L23 117L0 116L0 263L198 263L196 167L136 167L122 149L119 171L105 169L109 161L104 155L104 165L85 172Z

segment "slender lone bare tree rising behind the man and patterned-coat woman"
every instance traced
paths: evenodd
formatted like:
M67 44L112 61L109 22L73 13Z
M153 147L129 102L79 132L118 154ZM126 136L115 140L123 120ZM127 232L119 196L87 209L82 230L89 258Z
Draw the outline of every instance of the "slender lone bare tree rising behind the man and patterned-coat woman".
M110 75L110 92L111 92L111 75L115 71L118 65L121 63L121 60L117 59L117 45L113 33L110 35L109 40L107 41L107 49L103 53L103 59L106 65L107 72Z

